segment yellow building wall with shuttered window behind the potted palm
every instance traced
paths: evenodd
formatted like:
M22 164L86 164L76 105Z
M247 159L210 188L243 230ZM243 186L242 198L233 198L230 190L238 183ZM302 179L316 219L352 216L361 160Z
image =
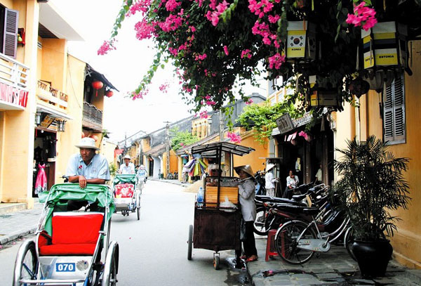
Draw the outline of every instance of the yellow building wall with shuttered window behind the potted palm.
M346 139L354 136L364 141L375 135L389 141L389 150L396 157L410 158L404 176L410 185L412 200L408 210L399 209L392 214L399 216L401 221L396 223L398 230L391 241L396 260L411 268L421 268L421 129L418 125L421 118L421 42L411 41L408 46L412 48L412 76L401 72L382 93L370 91L361 96L360 108L347 104L344 111L332 117L335 147L345 148Z

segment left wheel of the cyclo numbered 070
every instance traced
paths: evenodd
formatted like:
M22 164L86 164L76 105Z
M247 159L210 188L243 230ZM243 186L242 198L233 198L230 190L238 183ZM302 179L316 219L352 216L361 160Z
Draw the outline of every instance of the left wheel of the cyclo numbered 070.
M36 257L35 242L27 240L19 248L13 273L13 286L20 285L20 280L35 280L38 272L38 258Z

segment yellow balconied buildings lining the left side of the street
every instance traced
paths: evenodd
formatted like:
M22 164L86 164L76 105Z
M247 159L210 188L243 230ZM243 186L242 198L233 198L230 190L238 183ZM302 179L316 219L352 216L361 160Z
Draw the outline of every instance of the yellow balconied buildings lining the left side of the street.
M0 4L8 25L0 53L0 202L30 208L39 164L46 166L50 188L62 182L82 131L97 136L100 146L105 88L115 88L67 53L67 41L83 39L53 4ZM95 97L94 80L103 85ZM95 109L88 110L86 103Z

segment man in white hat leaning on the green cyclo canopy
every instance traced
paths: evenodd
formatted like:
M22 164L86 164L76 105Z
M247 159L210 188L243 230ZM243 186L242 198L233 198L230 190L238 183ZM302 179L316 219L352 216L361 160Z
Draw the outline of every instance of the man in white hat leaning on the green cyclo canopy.
M79 183L81 188L86 188L87 183L103 184L109 181L109 168L107 159L100 154L96 154L96 150L100 150L95 146L93 138L82 138L79 145L79 154L74 154L67 164L66 176L69 177L70 183Z

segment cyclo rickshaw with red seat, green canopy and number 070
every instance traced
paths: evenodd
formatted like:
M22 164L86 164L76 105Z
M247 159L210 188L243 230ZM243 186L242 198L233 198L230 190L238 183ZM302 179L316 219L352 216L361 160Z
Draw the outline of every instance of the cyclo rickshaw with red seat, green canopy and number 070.
M44 209L36 239L25 240L20 245L13 286L116 285L119 245L109 242L114 212L111 188L88 184L81 189L78 183L61 183L39 197ZM67 210L75 209L72 204L85 202L90 207L84 212ZM105 249L104 264L102 249Z

